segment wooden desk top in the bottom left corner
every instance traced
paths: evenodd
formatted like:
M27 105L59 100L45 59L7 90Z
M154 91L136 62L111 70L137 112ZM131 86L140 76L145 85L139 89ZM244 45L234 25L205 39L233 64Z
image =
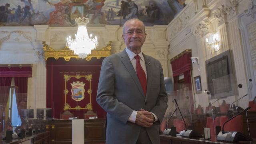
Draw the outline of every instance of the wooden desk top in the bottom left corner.
M42 132L11 141L0 140L0 144L49 144L49 132Z

